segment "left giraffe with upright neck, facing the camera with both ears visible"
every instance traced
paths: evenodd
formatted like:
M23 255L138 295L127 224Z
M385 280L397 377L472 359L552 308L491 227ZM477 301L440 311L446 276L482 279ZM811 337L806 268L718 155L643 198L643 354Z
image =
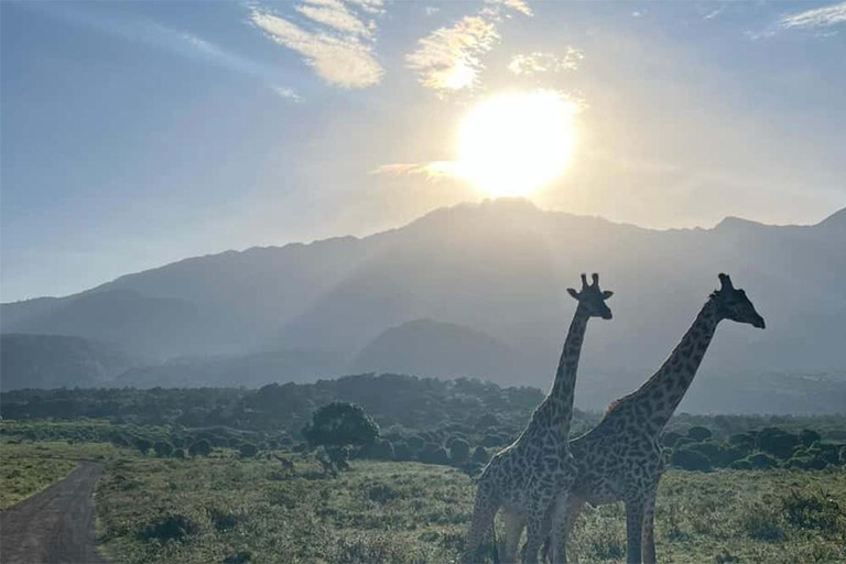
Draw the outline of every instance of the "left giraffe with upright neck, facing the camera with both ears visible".
M507 534L506 562L513 562L523 527L528 529L523 560L536 562L541 542L549 535L550 508L560 491L575 479L575 465L567 447L573 415L573 387L578 357L590 317L611 318L606 305L614 292L599 288L599 275L582 290L568 288L578 302L550 393L534 410L520 437L497 453L485 467L476 492L465 561L473 558L485 535L492 530L497 511L503 508ZM560 505L560 507L565 507ZM553 552L555 546L553 546Z

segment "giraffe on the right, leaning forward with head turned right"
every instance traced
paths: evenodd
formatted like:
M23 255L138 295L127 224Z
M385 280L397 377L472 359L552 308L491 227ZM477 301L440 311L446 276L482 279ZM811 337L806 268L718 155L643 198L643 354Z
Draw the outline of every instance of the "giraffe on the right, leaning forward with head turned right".
M577 466L561 529L553 536L565 550L573 522L585 503L626 503L627 562L655 562L654 508L663 474L659 443L661 432L691 386L723 319L764 328L763 317L736 290L731 279L719 274L720 289L711 294L693 325L661 368L634 392L611 403L593 430L570 442ZM547 540L549 542L549 540ZM549 544L544 547L544 551ZM550 555L555 558L554 547Z

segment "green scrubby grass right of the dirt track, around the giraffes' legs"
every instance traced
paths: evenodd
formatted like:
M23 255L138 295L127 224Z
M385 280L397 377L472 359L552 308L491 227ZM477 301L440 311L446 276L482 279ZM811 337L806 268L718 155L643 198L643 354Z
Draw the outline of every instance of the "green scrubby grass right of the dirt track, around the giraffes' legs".
M474 485L444 466L355 462L337 478L314 459L155 459L107 464L100 540L119 562L451 562ZM844 562L846 474L671 471L658 503L664 562ZM501 531L499 532L501 535ZM625 556L621 506L587 510L583 562Z

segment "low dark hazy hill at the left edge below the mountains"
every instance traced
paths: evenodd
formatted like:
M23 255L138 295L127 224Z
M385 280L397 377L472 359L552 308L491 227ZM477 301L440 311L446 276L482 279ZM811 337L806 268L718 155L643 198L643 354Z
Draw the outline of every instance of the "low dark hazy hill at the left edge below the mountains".
M137 361L110 345L79 337L0 336L0 387L4 390L108 386Z

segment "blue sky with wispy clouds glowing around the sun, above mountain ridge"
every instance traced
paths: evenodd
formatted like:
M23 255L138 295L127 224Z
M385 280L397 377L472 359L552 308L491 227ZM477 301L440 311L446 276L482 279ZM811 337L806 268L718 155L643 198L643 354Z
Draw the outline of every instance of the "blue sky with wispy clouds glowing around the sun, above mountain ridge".
M0 2L0 299L364 236L501 93L572 100L531 199L652 228L846 206L846 2Z

